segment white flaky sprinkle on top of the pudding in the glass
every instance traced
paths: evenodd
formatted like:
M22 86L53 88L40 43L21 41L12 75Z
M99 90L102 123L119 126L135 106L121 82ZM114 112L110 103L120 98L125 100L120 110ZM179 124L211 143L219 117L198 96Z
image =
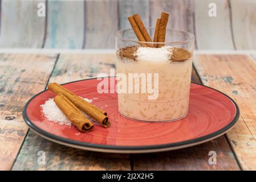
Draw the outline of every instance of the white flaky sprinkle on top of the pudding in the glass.
M139 47L135 52L138 61L169 61L172 55L172 47L161 48Z

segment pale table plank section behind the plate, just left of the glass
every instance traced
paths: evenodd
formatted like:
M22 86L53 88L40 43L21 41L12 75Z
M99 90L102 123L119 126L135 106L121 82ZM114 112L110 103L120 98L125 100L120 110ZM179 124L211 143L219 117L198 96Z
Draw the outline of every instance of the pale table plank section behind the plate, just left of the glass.
M116 55L113 54L62 54L50 82L65 82L97 77L99 73L107 73L115 68Z

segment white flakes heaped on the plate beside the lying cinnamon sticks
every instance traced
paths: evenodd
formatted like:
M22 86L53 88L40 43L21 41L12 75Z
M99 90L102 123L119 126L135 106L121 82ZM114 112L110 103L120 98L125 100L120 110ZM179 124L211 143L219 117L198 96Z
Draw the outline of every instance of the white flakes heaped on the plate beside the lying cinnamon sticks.
M92 100L89 100L88 98L83 98L87 102L92 102ZM54 99L50 98L48 99L43 105L40 105L42 107L42 113L43 115L52 122L58 122L60 125L68 125L71 126L72 123L70 119L66 117L62 113L62 111L59 109L59 107L55 104Z

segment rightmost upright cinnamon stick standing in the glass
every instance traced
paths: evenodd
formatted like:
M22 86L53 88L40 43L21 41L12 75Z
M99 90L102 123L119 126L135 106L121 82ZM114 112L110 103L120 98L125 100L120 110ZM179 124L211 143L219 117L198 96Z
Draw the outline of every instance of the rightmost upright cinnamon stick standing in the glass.
M169 18L168 13L164 13L164 12L161 13L157 42L165 42L165 34L166 34L166 26L168 23L168 18ZM158 44L157 47L162 47L162 46L164 46L164 44Z

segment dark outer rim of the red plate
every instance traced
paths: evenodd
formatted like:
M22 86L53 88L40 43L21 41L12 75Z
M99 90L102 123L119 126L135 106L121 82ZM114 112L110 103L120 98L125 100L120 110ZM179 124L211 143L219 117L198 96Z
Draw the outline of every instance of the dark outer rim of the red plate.
M101 78L108 78L108 77L101 77ZM66 82L61 85L71 84L71 83L79 82L79 81L94 80L94 79L97 79L97 77ZM205 85L198 84L195 82L191 82L191 84L205 86ZM71 147L75 147L75 148L80 148L80 149L86 148L86 150L100 151L100 152L104 152L104 150L105 150L106 152L121 152L121 153L135 153L135 152L142 153L144 151L150 152L150 150L152 150L152 152L156 152L157 150L158 151L172 150L172 148L174 148L173 150L176 150L176 149L180 149L180 148L194 146L197 144L208 142L209 140L212 140L214 138L218 138L221 135L225 134L227 131L229 131L235 125L235 123L237 123L237 121L238 121L240 111L239 111L239 107L238 107L237 103L232 98L227 96L225 93L223 93L217 89L211 88L210 86L205 86L205 87L215 90L215 91L223 94L227 98L229 98L229 100L231 102L233 102L235 109L236 109L235 117L228 125L226 125L225 127L222 127L220 130L214 131L213 133L210 133L208 135L205 135L205 136L202 136L199 138L184 140L182 142L166 143L166 144L158 144L158 145L148 145L148 146L114 146L114 145L107 145L107 144L105 145L105 144L94 144L94 143L88 143L88 142L79 142L77 140L67 139L67 138L59 137L58 135L48 133L47 131L44 131L44 130L40 129L39 127L37 127L36 125L34 125L34 123L32 123L30 121L29 116L27 115L27 112L26 112L27 106L29 106L30 102L32 100L34 100L35 97L46 92L48 89L35 94L35 96L32 96L30 98L30 100L26 102L25 106L22 109L22 117L23 117L25 123L30 127L30 129L32 131L34 131L34 133L40 135L40 137L51 140L52 142L56 142L59 144L63 144L63 145L71 146ZM182 146L184 146L184 147L182 147Z

